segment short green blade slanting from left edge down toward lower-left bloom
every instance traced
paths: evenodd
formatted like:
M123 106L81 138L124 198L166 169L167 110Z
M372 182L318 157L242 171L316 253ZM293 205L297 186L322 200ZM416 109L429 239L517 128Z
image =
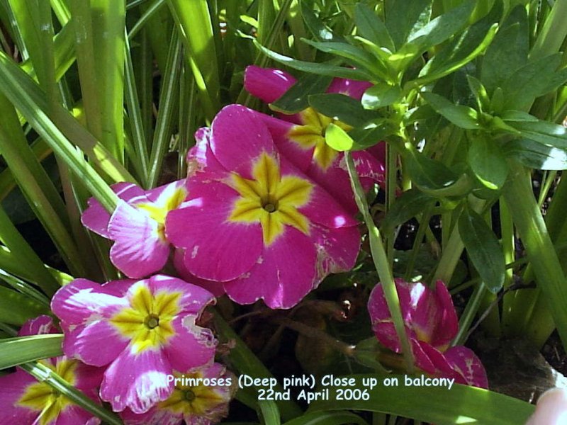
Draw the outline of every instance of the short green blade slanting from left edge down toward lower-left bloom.
M35 254L35 251L26 242L26 239L23 239L4 211L4 208L1 207L0 239L2 239L2 242L10 249L12 254L26 262L28 271L34 277L34 281L38 283L47 295L52 295L60 288L57 281L45 268L43 261Z

